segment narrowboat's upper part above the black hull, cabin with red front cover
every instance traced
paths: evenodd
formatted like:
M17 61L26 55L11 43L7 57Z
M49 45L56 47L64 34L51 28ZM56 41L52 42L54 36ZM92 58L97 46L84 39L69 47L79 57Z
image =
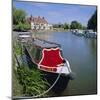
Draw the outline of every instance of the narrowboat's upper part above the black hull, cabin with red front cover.
M71 69L66 67L68 62L62 57L59 44L35 38L32 42L28 42L25 48L38 69L52 73L60 73L61 69L62 73L71 72Z

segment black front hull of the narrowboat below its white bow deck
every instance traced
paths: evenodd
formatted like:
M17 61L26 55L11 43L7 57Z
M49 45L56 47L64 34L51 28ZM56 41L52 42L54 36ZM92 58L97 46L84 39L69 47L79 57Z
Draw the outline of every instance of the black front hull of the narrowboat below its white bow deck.
M48 81L50 86L52 86L59 77L58 73L51 73L45 71L41 71L41 73L43 73L43 77ZM70 75L60 74L59 79L57 80L57 82L55 83L55 85L52 87L51 90L57 94L62 93L67 88L69 80L70 80Z

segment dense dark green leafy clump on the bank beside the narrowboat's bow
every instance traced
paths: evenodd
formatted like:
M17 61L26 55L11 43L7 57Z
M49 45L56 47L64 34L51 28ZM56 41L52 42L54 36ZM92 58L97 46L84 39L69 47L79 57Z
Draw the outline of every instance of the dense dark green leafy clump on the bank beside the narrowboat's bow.
M17 70L19 83L23 86L25 96L35 96L43 93L49 85L42 79L42 74L37 70L30 70L28 67L21 66Z

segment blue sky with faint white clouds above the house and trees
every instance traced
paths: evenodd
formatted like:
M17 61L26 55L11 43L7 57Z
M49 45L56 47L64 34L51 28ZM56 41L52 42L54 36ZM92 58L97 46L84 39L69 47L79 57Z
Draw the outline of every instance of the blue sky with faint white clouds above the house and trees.
M88 20L96 10L96 6L59 4L59 3L39 3L13 1L13 5L18 9L23 9L27 16L44 17L50 24L71 23L73 20L86 26Z

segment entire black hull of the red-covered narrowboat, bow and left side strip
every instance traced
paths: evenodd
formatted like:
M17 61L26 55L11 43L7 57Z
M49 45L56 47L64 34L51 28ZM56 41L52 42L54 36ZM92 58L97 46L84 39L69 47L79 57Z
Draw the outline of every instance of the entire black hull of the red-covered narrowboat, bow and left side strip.
M31 65L34 63L32 62L31 57L29 56L27 50L25 50L25 55L26 55L27 63L29 67L31 68ZM59 73L46 72L42 70L40 70L40 72L43 74L43 78L48 81L50 86L54 84L54 82L56 81L59 75ZM54 91L55 93L63 92L66 89L70 79L71 79L70 75L60 74L58 81L56 82L56 84L53 86L51 90Z

